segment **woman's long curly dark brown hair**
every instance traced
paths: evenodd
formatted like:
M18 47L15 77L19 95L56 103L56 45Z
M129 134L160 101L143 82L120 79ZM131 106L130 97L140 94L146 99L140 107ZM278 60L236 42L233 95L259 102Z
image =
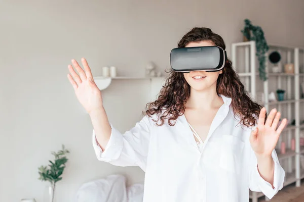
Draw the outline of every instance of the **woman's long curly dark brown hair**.
M209 28L195 27L186 33L178 42L178 47L185 47L190 42L200 42L204 40L212 41L216 46L225 50L226 46L222 37L215 34ZM234 116L240 118L240 124L245 126L255 126L256 116L259 115L261 106L249 97L244 85L240 81L238 74L232 68L231 60L227 59L222 74L219 74L216 82L217 94L231 97ZM168 118L170 126L175 125L178 116L185 112L185 103L190 96L190 86L186 82L183 73L169 71L163 88L161 89L157 100L146 105L145 114L151 117L154 114L161 121L159 126L165 123ZM169 115L169 116L168 116Z

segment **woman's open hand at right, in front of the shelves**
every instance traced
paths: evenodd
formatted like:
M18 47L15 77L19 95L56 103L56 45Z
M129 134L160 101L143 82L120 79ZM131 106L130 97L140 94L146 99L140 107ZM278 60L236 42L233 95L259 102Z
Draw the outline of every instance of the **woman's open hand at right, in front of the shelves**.
M255 154L262 156L271 156L280 134L284 129L287 120L283 119L277 128L281 114L273 109L265 122L266 109L262 108L259 114L257 127L251 132L250 144Z

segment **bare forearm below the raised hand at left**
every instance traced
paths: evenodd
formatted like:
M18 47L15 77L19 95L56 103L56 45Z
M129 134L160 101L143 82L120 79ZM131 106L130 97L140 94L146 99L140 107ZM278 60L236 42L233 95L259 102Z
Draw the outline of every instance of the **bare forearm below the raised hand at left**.
M90 118L98 144L101 149L104 150L111 135L111 126L109 124L104 108L90 112Z

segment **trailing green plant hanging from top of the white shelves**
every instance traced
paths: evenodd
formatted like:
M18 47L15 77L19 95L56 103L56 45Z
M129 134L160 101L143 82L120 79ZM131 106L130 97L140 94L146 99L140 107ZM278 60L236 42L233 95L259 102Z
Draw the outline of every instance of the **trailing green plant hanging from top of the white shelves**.
M253 26L251 21L248 19L244 20L245 26L244 29L241 30L244 38L246 37L249 40L255 41L256 47L256 56L259 61L259 78L263 81L267 80L266 71L265 71L265 53L268 52L269 46L264 37L264 32L260 26ZM251 36L250 32L253 36Z

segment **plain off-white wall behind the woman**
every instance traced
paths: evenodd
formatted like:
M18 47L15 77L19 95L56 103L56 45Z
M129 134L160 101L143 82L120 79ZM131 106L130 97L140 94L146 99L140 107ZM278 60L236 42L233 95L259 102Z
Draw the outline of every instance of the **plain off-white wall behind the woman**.
M96 76L105 65L143 76L148 61L164 70L171 48L194 26L220 34L230 56L245 18L260 25L270 43L304 46L303 9L301 0L0 0L0 201L42 201L45 183L37 180L37 167L62 143L71 154L58 202L111 173L126 174L129 183L143 180L138 168L96 160L89 116L66 79L70 59L86 57ZM147 81L115 81L103 91L108 117L120 131L139 120L146 89Z

